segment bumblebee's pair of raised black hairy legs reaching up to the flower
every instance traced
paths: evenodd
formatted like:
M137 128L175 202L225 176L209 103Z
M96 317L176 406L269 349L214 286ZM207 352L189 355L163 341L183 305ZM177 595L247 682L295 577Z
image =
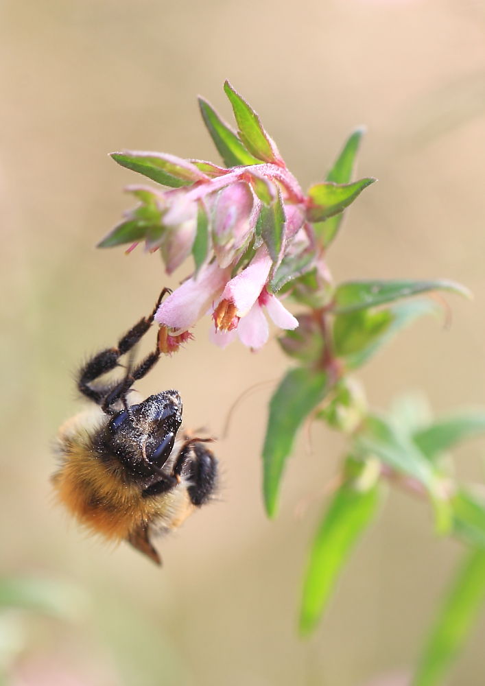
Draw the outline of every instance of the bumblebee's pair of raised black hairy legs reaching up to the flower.
M155 353L148 355L141 364L139 364L123 381L117 383L115 386L91 386L91 382L95 381L98 377L112 371L118 366L119 357L128 353L134 345L136 345L139 340L145 335L145 333L152 326L154 316L156 311L163 299L165 294L170 293L170 289L164 288L161 292L156 305L152 313L143 317L137 324L134 325L123 335L115 348L106 348L106 350L97 353L94 357L82 366L78 375L78 389L86 398L94 401L98 405L102 405L105 411L109 411L110 405L119 400L123 394L128 392L133 381L141 379L145 374L154 366L156 363L159 353L158 350ZM126 386L128 381L131 379L130 384ZM108 398L110 399L108 401Z

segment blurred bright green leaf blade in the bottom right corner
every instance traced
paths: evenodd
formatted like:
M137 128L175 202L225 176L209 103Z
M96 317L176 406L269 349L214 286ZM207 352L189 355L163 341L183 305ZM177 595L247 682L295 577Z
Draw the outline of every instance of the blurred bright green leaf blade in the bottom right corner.
M467 553L443 602L412 682L440 686L485 600L485 550Z

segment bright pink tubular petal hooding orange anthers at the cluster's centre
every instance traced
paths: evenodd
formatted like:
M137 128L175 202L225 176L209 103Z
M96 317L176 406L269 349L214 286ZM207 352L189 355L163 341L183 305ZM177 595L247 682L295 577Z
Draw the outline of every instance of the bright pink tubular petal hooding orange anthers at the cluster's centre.
M271 265L268 249L261 246L246 269L226 284L222 298L235 304L238 316L244 317L255 304L268 280Z

